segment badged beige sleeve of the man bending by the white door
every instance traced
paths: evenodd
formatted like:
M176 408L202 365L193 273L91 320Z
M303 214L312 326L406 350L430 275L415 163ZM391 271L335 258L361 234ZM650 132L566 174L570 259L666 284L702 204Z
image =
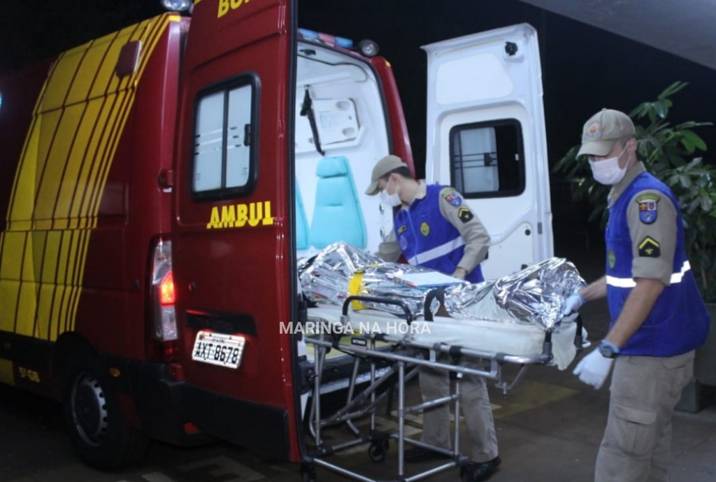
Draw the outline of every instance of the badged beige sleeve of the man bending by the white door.
M463 196L453 188L440 191L440 213L460 232L465 240L465 254L458 263L468 273L485 259L490 247L490 235L475 213L465 205Z

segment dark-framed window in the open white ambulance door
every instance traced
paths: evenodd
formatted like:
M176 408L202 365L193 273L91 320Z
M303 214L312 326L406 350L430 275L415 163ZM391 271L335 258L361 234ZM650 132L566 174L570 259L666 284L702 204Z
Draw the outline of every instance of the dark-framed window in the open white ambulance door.
M525 189L517 120L456 125L450 130L451 184L465 198L518 196Z

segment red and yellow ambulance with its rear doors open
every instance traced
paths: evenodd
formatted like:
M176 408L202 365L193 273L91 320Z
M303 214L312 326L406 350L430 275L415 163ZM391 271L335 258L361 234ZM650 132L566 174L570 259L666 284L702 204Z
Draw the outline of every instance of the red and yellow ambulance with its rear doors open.
M0 381L60 400L105 470L150 438L304 460L297 263L375 251L374 163L415 172L377 44L299 29L293 0L182 8L0 77ZM550 257L535 30L425 51L427 182L490 231L486 277Z

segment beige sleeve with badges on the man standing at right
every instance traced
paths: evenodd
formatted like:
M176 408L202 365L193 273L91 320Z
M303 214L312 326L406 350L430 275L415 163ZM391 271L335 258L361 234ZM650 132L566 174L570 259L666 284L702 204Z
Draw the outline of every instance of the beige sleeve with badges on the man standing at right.
M676 250L676 208L659 191L640 191L627 207L632 238L632 276L671 284Z

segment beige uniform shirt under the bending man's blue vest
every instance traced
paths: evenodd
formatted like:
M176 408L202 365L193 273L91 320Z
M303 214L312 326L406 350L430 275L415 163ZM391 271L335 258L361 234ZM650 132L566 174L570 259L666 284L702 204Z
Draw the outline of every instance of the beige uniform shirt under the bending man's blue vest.
M415 199L425 198L426 193L427 185L425 181L421 180ZM469 212L472 216L465 216L465 208L468 208L468 206L465 206L463 196L460 196L460 198L463 198L463 203L460 203L459 206L453 206L453 204L450 204L450 202L445 199L443 193L455 193L455 190L453 188L443 188L438 198L438 207L440 208L442 217L455 226L455 229L458 230L460 236L463 236L463 240L465 240L465 254L463 254L463 258L460 259L458 267L465 269L465 271L468 271L468 274L470 274L470 272L475 269L475 266L478 266L478 264L485 259L485 256L487 256L488 248L490 247L490 235L473 211ZM412 204L415 199L411 201L410 204ZM402 209L409 207L410 206L402 206ZM460 218L460 216L462 216L462 218ZM400 259L401 254L402 251L395 237L395 231L390 231L385 241L378 246L378 251L375 253L375 256L385 261L395 262Z

